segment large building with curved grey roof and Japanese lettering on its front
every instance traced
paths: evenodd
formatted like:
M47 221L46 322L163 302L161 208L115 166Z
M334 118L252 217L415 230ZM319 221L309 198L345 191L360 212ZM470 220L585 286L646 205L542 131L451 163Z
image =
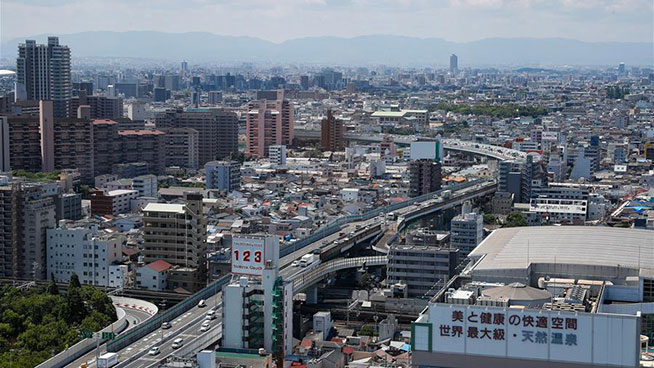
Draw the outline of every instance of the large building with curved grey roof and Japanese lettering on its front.
M414 367L638 367L654 336L651 231L499 229L412 326Z

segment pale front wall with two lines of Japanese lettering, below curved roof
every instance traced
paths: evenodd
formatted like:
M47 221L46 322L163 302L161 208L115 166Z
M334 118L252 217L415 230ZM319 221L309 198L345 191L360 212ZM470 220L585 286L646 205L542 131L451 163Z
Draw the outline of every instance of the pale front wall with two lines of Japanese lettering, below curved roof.
M633 315L430 304L412 326L414 367L638 367Z

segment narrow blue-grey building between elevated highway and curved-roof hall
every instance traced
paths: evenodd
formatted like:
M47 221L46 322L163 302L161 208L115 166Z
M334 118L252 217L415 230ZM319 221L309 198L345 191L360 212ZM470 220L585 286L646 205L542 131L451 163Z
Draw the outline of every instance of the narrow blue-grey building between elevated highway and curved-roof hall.
M472 211L469 202L450 223L450 245L460 250L461 257L467 256L484 238L484 216Z

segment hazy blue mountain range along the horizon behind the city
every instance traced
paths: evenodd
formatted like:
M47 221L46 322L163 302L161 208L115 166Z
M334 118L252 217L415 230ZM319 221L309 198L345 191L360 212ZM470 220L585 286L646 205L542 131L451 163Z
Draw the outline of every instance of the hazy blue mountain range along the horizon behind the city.
M487 38L456 43L437 38L371 35L354 38L309 37L274 43L254 37L212 33L82 32L60 35L73 57L130 57L197 62L315 63L341 65L562 66L654 64L653 44L583 42L561 38ZM28 37L45 42L47 35ZM0 56L13 58L19 43L0 45Z

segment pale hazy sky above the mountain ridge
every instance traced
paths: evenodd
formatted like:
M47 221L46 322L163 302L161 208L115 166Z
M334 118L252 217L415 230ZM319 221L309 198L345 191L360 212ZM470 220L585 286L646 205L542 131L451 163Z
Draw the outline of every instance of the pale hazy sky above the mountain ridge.
M279 42L395 34L470 41L647 41L653 0L0 0L2 40L81 31L205 31Z

